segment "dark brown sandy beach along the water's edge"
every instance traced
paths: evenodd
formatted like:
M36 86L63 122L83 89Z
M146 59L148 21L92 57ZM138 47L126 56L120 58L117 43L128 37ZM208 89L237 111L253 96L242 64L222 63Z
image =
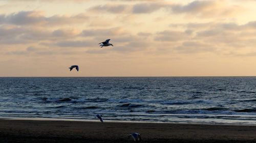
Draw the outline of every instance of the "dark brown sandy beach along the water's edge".
M0 120L0 142L256 142L256 126Z

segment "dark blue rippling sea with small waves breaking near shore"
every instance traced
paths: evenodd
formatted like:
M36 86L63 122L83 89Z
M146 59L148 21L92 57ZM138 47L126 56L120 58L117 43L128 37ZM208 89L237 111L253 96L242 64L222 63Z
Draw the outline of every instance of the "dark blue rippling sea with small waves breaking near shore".
M0 118L256 125L256 77L1 77Z

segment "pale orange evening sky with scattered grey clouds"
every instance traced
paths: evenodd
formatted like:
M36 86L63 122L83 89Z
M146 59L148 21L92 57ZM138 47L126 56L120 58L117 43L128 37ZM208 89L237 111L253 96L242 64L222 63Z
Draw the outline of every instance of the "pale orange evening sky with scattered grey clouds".
M0 76L256 76L255 5L0 0Z

